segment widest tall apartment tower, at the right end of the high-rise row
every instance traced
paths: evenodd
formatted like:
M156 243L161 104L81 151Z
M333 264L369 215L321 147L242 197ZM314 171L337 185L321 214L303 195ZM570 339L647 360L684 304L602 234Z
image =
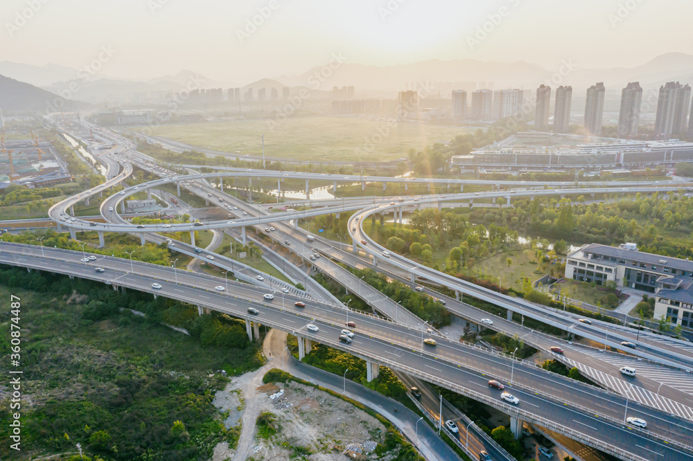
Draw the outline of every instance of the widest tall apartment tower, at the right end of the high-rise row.
M691 87L678 82L667 82L659 89L657 117L654 132L668 138L685 133L686 118L691 101Z

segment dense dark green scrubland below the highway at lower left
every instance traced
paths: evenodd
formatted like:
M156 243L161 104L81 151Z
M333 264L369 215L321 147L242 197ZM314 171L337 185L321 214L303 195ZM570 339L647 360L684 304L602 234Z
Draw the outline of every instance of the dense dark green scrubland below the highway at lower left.
M21 363L34 400L22 406L22 442L31 451L19 459L73 452L80 443L91 459L207 460L229 440L211 404L227 382L215 372L261 365L245 332L242 344L225 340L236 320L198 318L196 307L182 302L40 271L0 266L0 280L1 297L21 298ZM189 327L193 336L159 322ZM0 355L9 352L3 334ZM10 419L8 399L0 419ZM6 425L0 437L8 439ZM10 458L9 450L0 447L0 458Z

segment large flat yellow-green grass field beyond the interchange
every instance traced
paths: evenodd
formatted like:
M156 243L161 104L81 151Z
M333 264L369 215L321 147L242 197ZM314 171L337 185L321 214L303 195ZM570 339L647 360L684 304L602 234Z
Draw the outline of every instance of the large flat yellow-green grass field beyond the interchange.
M421 150L466 132L464 128L405 123L388 128L385 120L330 116L288 118L279 125L272 125L274 129L269 123L270 120L248 120L164 125L155 128L153 134L236 153L241 159L245 155L262 155L261 136L265 134L267 156L302 161L389 161L406 157L412 147ZM389 129L389 135L381 136L378 129L380 132ZM370 150L366 150L365 146L371 143Z

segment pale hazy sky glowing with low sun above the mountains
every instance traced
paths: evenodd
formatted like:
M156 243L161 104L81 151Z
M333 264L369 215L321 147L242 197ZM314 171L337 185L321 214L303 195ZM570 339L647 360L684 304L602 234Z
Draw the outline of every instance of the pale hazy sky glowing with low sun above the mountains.
M270 14L245 35L258 8ZM23 11L32 17L21 25ZM572 57L631 67L693 54L692 17L690 0L3 0L0 61L79 68L111 46L102 75L190 69L238 83L302 73L332 53L376 65L471 57L553 68Z

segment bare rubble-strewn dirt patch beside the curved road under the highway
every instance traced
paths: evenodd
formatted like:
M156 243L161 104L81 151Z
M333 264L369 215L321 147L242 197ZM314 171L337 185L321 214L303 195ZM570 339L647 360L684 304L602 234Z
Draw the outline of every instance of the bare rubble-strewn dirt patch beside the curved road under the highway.
M348 448L360 459L376 459L372 451L385 435L385 426L378 419L310 386L290 382L275 387L280 392L283 389L283 395L272 392L274 399L260 397L258 406L261 412L277 416L277 433L268 439L256 435L250 449L252 458L344 460Z

